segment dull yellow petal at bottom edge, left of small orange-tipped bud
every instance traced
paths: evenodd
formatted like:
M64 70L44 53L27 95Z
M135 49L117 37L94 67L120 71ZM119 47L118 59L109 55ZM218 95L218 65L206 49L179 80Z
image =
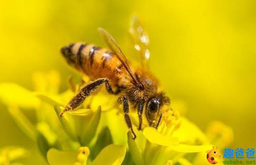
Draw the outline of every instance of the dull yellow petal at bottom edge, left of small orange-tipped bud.
M50 165L73 165L77 160L77 153L51 148L47 152L47 160Z

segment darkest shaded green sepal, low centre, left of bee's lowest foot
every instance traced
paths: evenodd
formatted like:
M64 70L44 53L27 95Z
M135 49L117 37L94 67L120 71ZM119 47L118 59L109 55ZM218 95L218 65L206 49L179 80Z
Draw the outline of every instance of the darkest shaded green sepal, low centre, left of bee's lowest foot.
M100 151L109 144L113 144L113 139L109 128L104 127L98 134L97 141L94 145L94 148L91 150L90 157L94 159L100 153Z

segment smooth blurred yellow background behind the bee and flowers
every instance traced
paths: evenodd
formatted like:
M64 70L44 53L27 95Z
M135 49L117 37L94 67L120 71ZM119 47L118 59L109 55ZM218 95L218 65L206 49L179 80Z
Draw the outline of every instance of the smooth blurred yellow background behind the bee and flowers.
M0 82L33 90L36 71L55 69L66 79L60 48L83 41L105 46L106 28L131 61L127 33L137 15L150 35L150 67L181 113L202 130L213 120L234 131L231 148L256 146L255 0L1 0ZM15 93L13 93L15 95ZM189 131L189 130L188 130ZM44 158L0 103L0 147L34 150L25 164Z

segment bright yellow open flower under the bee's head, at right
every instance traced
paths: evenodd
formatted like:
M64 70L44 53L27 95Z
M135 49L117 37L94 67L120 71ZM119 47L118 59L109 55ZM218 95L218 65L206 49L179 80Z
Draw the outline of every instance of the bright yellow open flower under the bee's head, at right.
M156 130L146 127L144 136L138 136L134 141L128 133L128 145L136 165L166 165L177 162L188 162L183 156L186 153L204 152L212 145L197 144L204 141L205 135L193 123L180 118L177 111L166 112L164 122ZM141 138L145 145L141 146ZM144 141L145 141L144 140Z

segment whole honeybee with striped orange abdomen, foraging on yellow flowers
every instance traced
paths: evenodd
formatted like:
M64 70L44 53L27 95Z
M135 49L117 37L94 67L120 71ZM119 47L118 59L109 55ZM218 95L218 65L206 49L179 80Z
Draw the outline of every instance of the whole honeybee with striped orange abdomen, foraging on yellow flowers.
M98 28L98 31L110 50L85 43L72 43L61 49L68 64L87 75L91 81L81 86L60 116L75 110L98 87L105 84L109 94L118 96L118 103L123 105L126 125L131 130L133 139L136 139L129 116L130 106L137 109L138 130L141 130L143 113L149 125L157 129L164 113L162 107L170 103L164 92L159 90L157 78L149 71L149 37L138 18L134 17L129 31L134 47L140 54L141 66L133 71L112 35L102 28Z

